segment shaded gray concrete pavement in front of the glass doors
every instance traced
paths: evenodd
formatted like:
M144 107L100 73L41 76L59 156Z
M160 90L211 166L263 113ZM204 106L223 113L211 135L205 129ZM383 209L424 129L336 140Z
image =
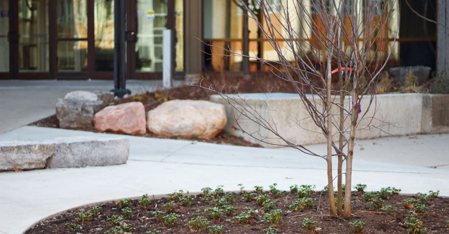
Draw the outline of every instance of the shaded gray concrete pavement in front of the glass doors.
M133 95L162 89L161 80L127 80L126 85ZM175 87L181 85L181 81L173 82ZM111 89L111 80L0 80L0 134L53 115L58 98L71 91Z

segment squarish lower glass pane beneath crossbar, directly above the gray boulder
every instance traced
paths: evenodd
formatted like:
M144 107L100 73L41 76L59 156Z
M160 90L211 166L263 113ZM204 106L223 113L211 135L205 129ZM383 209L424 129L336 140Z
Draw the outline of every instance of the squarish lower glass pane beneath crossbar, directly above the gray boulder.
M87 70L86 41L58 41L57 56L59 71Z

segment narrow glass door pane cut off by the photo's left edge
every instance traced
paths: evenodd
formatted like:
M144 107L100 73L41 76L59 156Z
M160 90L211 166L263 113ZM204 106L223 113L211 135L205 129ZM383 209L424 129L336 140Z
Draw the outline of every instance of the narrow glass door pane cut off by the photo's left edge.
M0 11L6 14L8 11L8 0L0 0ZM0 72L8 72L10 69L9 51L10 44L8 42L9 17L0 17Z

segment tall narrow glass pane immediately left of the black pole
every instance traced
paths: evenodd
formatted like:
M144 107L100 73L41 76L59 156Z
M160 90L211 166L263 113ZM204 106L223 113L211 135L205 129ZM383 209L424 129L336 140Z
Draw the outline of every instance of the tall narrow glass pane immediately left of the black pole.
M96 0L95 70L114 71L114 1Z

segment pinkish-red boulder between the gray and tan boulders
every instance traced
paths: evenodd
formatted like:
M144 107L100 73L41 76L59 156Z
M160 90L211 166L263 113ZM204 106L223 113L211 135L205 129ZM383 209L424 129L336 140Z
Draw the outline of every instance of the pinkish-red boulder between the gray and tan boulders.
M107 106L95 114L94 128L126 134L145 134L145 107L141 102Z

